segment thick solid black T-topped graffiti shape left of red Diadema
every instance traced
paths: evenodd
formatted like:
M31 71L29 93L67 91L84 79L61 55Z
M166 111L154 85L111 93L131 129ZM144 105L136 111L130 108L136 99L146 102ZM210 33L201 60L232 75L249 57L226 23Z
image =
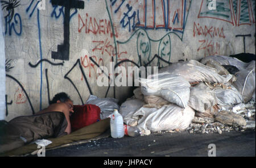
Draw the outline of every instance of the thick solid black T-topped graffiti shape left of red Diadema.
M57 52L52 51L52 58L55 60L69 60L69 21L72 8L84 9L84 1L77 0L52 0L52 5L64 6L64 41L57 45Z

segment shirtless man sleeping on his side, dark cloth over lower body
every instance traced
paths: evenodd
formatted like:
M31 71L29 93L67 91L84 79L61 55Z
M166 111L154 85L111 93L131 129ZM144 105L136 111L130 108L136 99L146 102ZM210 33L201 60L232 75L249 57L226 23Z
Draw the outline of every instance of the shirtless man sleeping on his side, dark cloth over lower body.
M58 93L47 108L35 115L5 121L5 124L0 124L0 154L38 139L71 133L69 114L72 112L72 100L66 93Z

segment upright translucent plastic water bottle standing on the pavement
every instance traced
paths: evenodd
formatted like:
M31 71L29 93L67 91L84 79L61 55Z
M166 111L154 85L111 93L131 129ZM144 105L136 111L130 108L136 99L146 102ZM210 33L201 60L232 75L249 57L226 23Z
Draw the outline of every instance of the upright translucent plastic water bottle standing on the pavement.
M110 119L111 136L113 138L122 138L125 136L125 131L123 130L123 117L116 109Z

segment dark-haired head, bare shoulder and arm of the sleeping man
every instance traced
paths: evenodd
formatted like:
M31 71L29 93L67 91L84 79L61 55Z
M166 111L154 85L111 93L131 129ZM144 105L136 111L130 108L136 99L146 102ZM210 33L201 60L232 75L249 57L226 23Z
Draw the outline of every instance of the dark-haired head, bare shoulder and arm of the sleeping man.
M53 111L63 112L68 122L68 126L65 129L65 132L67 132L68 134L71 133L71 124L70 124L69 116L74 111L73 111L73 102L69 98L69 96L63 92L58 93L53 97L52 101L49 104L50 105L47 108L44 108L44 110L39 111L37 114L43 114L46 112L53 112Z

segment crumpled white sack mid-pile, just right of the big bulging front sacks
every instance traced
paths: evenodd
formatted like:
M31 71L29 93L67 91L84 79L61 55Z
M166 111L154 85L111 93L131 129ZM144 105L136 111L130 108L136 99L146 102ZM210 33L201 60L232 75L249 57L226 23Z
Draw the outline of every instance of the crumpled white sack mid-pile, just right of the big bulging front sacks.
M205 112L217 104L216 94L201 82L190 89L188 106L193 110Z

